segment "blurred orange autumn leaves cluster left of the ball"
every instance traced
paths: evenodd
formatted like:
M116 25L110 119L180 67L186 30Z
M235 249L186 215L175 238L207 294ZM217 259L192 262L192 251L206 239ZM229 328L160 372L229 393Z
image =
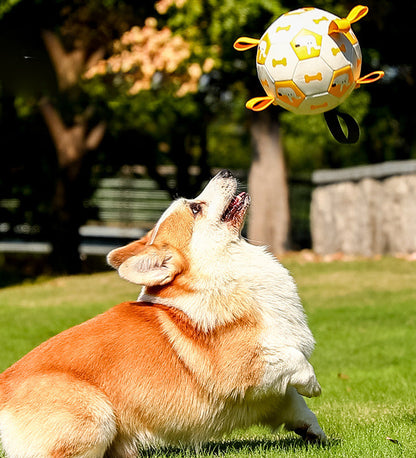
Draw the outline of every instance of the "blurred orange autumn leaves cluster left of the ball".
M184 0L160 0L155 6L163 14L172 4L181 7L183 3ZM177 97L197 92L201 76L212 70L214 60L190 62L191 44L168 27L157 26L157 20L150 17L143 27L132 27L114 42L113 54L89 68L85 77L122 75L132 95L151 89L156 81L173 84Z

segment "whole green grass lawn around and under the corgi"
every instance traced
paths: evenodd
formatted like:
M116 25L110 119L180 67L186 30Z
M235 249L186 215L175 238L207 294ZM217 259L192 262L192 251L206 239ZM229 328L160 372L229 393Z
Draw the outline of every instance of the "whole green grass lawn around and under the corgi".
M317 340L312 363L323 392L307 402L328 444L307 445L292 433L253 427L199 452L169 448L146 456L416 456L416 263L289 258L284 264ZM137 286L115 272L1 289L0 370L59 331L137 294Z

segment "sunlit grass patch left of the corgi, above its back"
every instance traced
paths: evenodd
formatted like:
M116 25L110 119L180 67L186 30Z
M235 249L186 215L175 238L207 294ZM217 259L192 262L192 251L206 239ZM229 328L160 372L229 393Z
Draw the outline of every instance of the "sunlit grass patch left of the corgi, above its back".
M64 329L135 300L139 287L115 272L39 279L0 289L0 371Z

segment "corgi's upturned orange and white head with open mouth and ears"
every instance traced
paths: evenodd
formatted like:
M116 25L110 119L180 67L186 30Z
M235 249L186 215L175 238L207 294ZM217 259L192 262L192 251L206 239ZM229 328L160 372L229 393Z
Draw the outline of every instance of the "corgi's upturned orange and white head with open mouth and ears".
M145 286L171 283L204 271L240 238L250 198L236 195L237 180L223 170L193 200L175 200L142 239L111 251L108 263L122 278Z

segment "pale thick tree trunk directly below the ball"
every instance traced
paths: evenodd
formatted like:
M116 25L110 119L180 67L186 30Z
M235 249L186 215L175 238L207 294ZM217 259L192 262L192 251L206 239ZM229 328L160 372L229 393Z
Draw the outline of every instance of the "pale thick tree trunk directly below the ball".
M248 237L278 255L289 247L289 191L279 126L270 112L253 115L251 136L254 156L248 180L252 198Z

